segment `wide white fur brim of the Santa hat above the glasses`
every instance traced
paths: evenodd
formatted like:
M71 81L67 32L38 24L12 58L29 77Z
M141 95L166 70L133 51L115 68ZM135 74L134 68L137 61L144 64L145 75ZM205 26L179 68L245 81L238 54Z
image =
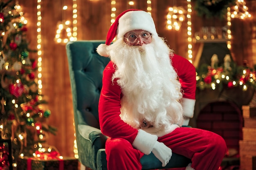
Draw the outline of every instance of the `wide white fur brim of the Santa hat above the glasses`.
M145 30L153 35L157 35L153 18L146 11L128 11L119 18L117 29L117 39L132 30Z

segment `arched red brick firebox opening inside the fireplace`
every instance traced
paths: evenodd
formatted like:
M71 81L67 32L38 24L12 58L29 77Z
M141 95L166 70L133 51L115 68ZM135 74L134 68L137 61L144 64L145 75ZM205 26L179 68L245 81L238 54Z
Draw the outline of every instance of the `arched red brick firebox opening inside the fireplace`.
M222 136L227 148L239 150L242 139L243 116L240 108L232 102L207 104L197 118L197 127Z

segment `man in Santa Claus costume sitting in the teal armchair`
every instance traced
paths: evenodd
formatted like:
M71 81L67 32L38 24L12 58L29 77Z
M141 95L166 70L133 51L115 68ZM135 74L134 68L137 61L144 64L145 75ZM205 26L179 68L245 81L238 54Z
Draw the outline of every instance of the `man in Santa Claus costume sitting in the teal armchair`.
M175 152L192 160L186 170L218 170L226 152L222 137L182 127L193 117L195 68L158 36L149 13L121 13L97 52L111 60L99 99L109 170L139 170L150 152L163 167Z

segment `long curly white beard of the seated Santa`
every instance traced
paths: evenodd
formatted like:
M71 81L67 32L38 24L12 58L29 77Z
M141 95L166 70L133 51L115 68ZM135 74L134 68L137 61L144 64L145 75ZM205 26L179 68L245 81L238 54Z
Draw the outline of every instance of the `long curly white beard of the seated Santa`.
M119 39L108 50L117 66L112 80L117 78L123 93L121 119L134 128L143 121L161 129L182 125L181 85L164 40L153 37L150 44L129 46Z

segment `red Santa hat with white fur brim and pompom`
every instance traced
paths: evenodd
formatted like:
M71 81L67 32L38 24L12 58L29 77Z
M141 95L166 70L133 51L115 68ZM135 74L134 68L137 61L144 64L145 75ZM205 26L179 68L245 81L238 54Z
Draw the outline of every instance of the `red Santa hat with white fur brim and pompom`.
M107 47L115 37L117 37L116 39L118 40L119 38L124 38L124 35L127 32L139 29L148 31L152 35L157 35L153 18L146 11L142 11L140 9L128 9L122 12L110 26L106 38L106 44L100 44L97 48L97 52L99 55L108 57Z

